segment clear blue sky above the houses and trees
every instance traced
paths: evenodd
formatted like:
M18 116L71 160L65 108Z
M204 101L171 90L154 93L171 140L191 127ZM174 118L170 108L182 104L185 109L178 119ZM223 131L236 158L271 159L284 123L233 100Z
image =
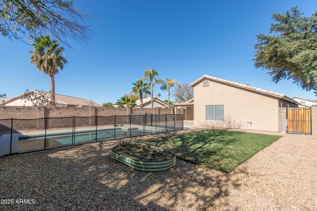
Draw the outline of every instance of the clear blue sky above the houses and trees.
M204 74L316 99L290 80L277 84L266 70L255 69L255 35L268 34L273 13L299 6L306 16L317 11L315 0L210 1L108 0L81 1L87 14L100 15L88 45L72 43L68 64L55 76L55 93L96 103L113 102L129 93L144 71L159 78L191 83ZM27 38L26 38L27 40ZM49 76L32 66L32 47L0 36L0 92L14 97L29 90L50 90ZM154 87L154 96L166 91Z

